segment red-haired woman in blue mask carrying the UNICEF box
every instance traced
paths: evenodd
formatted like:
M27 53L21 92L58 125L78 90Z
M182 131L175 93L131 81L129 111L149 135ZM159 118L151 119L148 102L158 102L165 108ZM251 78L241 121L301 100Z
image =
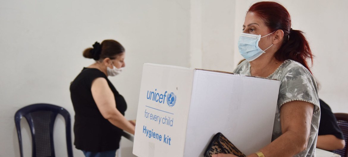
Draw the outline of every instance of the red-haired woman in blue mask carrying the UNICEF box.
M280 81L272 142L248 157L314 157L320 107L303 32L291 28L290 14L279 3L257 2L247 11L238 48L246 61L234 73Z

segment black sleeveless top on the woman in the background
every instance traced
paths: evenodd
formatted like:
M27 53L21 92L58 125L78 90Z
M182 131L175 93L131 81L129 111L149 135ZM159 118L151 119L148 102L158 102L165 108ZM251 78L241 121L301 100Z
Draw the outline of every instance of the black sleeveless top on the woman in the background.
M119 148L122 130L104 119L92 97L92 81L103 77L114 94L116 108L125 115L127 104L106 75L98 69L84 68L71 82L70 95L75 111L74 145L77 149L101 152Z

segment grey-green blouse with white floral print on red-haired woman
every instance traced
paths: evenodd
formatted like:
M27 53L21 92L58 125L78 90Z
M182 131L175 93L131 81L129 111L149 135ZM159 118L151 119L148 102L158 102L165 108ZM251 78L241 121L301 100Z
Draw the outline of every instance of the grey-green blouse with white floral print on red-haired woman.
M243 61L234 70L234 73L251 76L250 68L250 63L248 61ZM280 128L280 107L283 104L291 101L304 101L314 104L307 149L294 156L314 157L320 120L318 89L314 77L301 63L293 60L285 60L279 68L267 78L280 81L272 141L282 135L282 130Z

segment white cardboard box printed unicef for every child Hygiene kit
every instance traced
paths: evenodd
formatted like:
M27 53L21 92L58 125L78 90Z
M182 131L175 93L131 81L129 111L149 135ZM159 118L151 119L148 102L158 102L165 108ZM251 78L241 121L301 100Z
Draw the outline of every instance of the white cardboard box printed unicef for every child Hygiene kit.
M279 81L145 63L133 154L203 157L221 132L244 154L271 142Z

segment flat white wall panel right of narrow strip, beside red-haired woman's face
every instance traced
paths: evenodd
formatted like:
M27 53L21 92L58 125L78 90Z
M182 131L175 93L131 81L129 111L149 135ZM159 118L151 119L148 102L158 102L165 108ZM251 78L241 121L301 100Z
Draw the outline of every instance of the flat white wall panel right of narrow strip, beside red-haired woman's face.
M202 1L202 68L232 72L235 1Z

